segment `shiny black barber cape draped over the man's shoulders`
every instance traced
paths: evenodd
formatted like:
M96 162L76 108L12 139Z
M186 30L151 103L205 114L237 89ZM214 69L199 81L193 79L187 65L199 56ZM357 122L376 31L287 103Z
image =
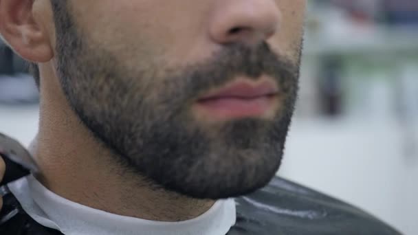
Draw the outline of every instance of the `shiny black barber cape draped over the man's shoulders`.
M19 207L19 202L11 193L3 199L4 211ZM399 234L358 208L279 177L275 177L268 186L253 194L236 198L235 202L236 224L228 235ZM0 226L0 234L62 233L43 227L21 210L19 214Z

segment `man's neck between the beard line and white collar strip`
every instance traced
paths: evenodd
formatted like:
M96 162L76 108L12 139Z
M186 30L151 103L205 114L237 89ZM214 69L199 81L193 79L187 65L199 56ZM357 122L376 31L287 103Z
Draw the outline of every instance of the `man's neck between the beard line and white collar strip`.
M46 188L91 208L152 221L185 221L212 207L211 200L156 190L120 166L118 156L70 109L57 79L48 77L53 78L43 76L41 82L39 134L32 149L40 169L37 178Z

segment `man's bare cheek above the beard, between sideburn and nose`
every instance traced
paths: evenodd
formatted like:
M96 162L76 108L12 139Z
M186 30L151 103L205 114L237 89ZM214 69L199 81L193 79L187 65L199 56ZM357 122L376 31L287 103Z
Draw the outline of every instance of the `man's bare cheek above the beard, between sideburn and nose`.
M125 60L146 56L157 64L177 66L211 53L205 30L213 1L73 1L90 44L118 52Z

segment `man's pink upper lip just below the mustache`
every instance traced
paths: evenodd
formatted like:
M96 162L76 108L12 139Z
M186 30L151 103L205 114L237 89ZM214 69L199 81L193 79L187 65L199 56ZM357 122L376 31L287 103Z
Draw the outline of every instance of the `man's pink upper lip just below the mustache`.
M210 100L220 98L241 98L251 99L262 96L272 96L278 93L278 88L272 82L265 81L259 84L251 84L250 82L234 82L222 89L209 93L199 100Z

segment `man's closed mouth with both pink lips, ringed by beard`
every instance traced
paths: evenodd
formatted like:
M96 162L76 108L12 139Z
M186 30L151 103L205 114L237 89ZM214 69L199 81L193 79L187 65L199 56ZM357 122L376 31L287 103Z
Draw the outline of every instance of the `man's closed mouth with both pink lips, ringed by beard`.
M274 113L278 95L272 80L239 80L199 98L196 107L211 120L266 117Z

